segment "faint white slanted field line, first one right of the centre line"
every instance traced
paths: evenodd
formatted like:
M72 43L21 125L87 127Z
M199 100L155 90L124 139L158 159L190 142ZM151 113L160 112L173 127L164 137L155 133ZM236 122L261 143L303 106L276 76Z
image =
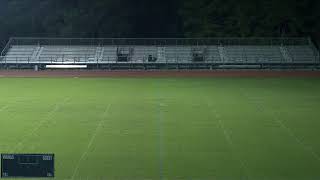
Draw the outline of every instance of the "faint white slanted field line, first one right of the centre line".
M209 104L209 102L207 102L207 106L209 107L209 109L214 113L215 117L218 119L218 123L219 123L219 126L220 128L222 129L223 131L223 135L224 137L226 138L227 140L227 143L229 144L229 146L231 147L231 151L233 151L233 147L235 147L232 139L231 139L231 135L228 133L227 129L225 128L221 118L220 118L220 115L218 114L218 112L212 108ZM234 152L233 152L234 153ZM235 153L234 153L235 154ZM235 155L236 156L236 155ZM240 166L241 168L244 170L244 173L245 173L245 176L246 176L246 179L249 179L249 169L248 167L246 166L244 160L238 156L236 156L236 158L238 159L239 163L240 163Z

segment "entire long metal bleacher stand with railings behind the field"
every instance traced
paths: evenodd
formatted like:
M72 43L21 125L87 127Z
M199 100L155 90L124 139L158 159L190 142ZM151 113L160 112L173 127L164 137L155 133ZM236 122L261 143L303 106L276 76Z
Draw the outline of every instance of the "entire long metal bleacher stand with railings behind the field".
M117 69L139 64L212 69L252 64L318 66L319 61L319 51L308 38L11 38L1 53L0 65L86 64Z

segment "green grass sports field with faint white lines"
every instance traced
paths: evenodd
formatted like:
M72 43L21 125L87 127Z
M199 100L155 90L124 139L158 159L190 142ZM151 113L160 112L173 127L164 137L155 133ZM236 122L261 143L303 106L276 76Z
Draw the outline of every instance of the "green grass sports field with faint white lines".
M55 179L320 179L317 78L1 78L0 152Z

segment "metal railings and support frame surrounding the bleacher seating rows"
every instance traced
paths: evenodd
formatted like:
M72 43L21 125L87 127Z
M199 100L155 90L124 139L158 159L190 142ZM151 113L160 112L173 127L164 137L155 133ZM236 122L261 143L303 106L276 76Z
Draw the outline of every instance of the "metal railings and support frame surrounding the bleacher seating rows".
M2 69L33 69L35 65L39 69L45 69L48 63L41 61L35 62L28 58L27 62L21 63L17 59L16 62L10 63L6 60L6 54L13 46L115 46L115 47L135 47L135 46L191 46L191 47L207 47L207 46L309 46L314 52L314 62L294 63L294 62L259 62L254 63L246 61L227 61L225 58L221 61L208 60L204 62L184 62L181 57L176 57L175 61L165 60L165 62L150 62L142 60L141 62L111 62L101 61L102 52L99 51L98 58L93 61L81 62L74 58L73 62L62 61L55 62L54 59L49 64L78 64L87 65L88 69L320 69L320 55L318 49L312 43L310 38L37 38L37 37L12 37L6 44L0 56L0 68ZM191 53L191 52L190 52ZM245 51L242 52L245 55Z

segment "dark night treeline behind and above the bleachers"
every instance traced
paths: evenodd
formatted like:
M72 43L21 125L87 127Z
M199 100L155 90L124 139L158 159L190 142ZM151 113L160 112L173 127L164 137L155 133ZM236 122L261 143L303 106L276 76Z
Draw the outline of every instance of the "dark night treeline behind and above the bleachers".
M0 0L10 36L320 37L319 0Z

